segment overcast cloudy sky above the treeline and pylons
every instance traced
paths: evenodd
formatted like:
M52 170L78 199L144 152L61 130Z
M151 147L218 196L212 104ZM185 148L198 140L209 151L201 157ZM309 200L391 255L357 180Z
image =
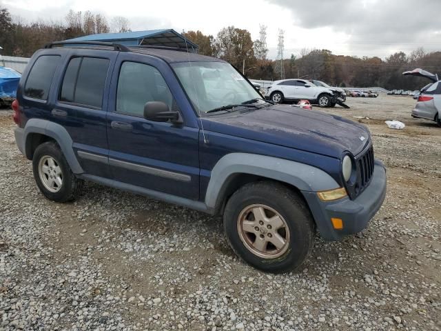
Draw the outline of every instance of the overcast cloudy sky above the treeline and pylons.
M441 50L441 0L0 0L14 17L64 23L68 10L90 10L108 19L121 15L132 30L174 28L213 34L226 26L259 37L267 26L269 57L285 30L285 58L302 48L334 54L387 57L398 50Z

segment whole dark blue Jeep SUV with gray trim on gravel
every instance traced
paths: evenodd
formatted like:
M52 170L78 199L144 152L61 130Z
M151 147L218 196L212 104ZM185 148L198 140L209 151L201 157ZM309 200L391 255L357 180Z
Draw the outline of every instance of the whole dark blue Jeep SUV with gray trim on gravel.
M94 181L223 215L234 251L267 272L298 267L316 231L360 232L386 194L365 126L265 101L229 63L199 54L51 43L12 108L48 199Z

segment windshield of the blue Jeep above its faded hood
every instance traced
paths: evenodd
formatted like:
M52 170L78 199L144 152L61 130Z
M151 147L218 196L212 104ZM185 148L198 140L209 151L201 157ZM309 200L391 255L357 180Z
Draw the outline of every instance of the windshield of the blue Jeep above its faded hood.
M229 63L183 62L172 64L172 68L199 114L262 99Z

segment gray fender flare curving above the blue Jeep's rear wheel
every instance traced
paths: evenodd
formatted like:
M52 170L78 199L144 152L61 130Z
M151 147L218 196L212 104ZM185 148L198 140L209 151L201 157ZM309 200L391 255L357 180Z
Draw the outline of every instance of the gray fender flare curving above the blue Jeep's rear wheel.
M74 174L81 174L84 172L83 168L81 168L81 165L78 162L78 159L76 159L74 150L72 148L72 138L70 137L68 131L63 128L63 126L45 119L28 120L26 122L23 134L23 150L25 151L26 156L28 156L27 147L30 144L30 137L28 137L28 135L32 133L44 134L45 136L51 137L57 141L61 151L64 154L64 157L69 163L70 169L72 169L72 172L74 172Z

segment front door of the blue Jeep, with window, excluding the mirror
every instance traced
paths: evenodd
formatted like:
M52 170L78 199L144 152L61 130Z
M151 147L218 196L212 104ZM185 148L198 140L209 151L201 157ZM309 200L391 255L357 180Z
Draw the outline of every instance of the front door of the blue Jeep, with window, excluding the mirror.
M161 101L180 111L169 84L176 78L156 68L158 59L120 53L107 112L109 163L116 181L178 197L199 197L199 129L143 117L145 103ZM164 71L164 67L161 66ZM172 77L171 77L172 76ZM173 82L173 79L175 80Z

